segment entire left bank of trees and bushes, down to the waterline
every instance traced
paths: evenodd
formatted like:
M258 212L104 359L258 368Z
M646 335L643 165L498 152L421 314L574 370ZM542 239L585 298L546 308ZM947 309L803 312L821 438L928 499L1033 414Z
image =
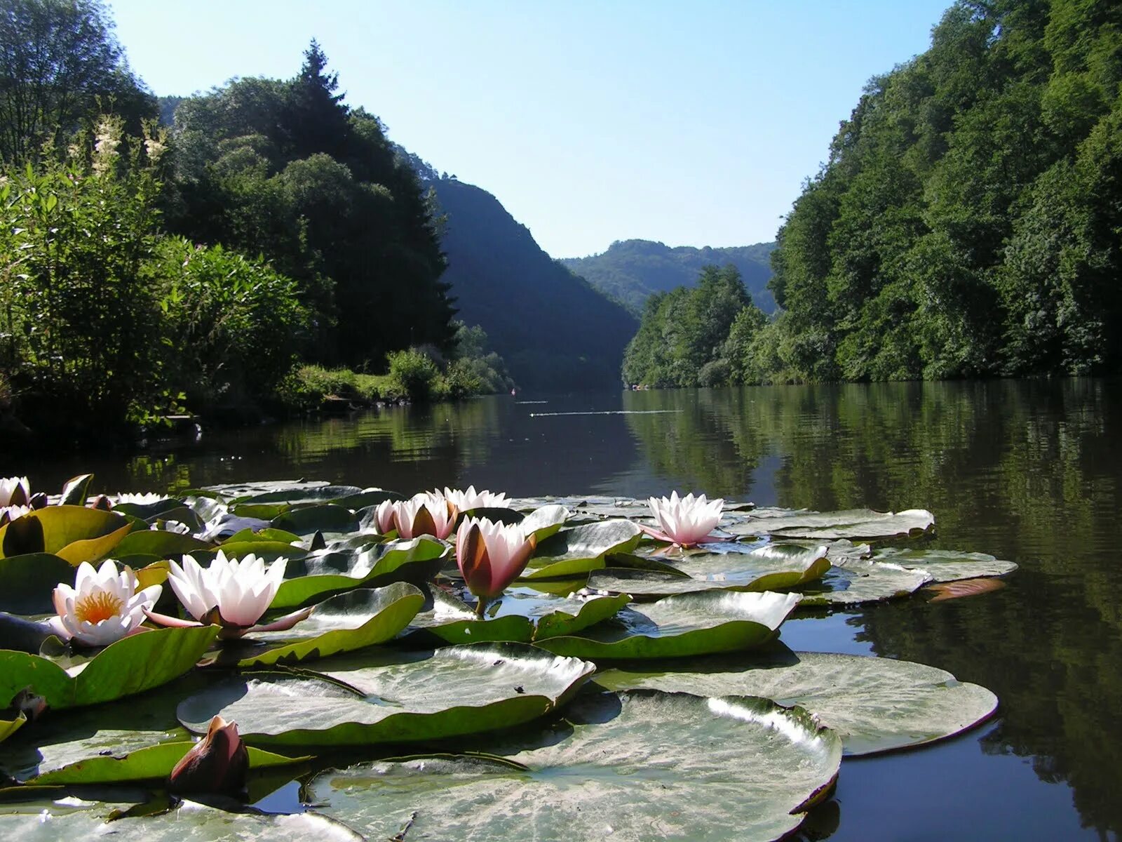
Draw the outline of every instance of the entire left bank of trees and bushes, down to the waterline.
M272 412L351 369L368 396L508 387L452 318L430 196L325 67L313 40L293 79L160 102L101 3L0 0L0 414Z

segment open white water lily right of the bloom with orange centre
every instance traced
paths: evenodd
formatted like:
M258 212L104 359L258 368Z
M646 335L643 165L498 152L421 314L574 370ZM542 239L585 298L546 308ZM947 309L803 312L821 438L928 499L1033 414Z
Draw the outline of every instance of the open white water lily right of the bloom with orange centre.
M268 610L287 564L278 558L266 569L265 559L254 553L238 561L219 550L210 567L200 566L193 556L184 556L182 567L172 561L167 582L195 620L218 608L223 625L245 629Z

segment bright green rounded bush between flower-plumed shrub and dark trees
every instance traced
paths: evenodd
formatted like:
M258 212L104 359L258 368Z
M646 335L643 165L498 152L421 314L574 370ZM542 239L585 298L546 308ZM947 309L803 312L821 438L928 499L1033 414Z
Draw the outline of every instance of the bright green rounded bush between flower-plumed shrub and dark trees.
M294 281L177 237L159 244L147 274L160 296L166 375L194 405L273 393L307 329Z

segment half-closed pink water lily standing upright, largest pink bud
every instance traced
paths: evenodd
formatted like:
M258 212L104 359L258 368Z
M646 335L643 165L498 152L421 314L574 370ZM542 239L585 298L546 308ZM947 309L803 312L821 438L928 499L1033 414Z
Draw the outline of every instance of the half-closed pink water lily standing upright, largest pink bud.
M489 600L503 593L526 569L537 546L518 524L493 523L487 518L468 518L456 533L456 564L468 586L479 597L476 613L482 616Z

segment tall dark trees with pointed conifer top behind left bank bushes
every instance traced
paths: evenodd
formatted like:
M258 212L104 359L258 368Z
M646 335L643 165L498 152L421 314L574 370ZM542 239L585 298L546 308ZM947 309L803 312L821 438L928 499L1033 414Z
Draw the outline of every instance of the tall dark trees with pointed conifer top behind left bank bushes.
M452 329L434 219L378 118L351 110L315 42L300 75L178 103L171 227L268 257L316 326L314 360L355 367ZM377 329L371 330L371 321Z

